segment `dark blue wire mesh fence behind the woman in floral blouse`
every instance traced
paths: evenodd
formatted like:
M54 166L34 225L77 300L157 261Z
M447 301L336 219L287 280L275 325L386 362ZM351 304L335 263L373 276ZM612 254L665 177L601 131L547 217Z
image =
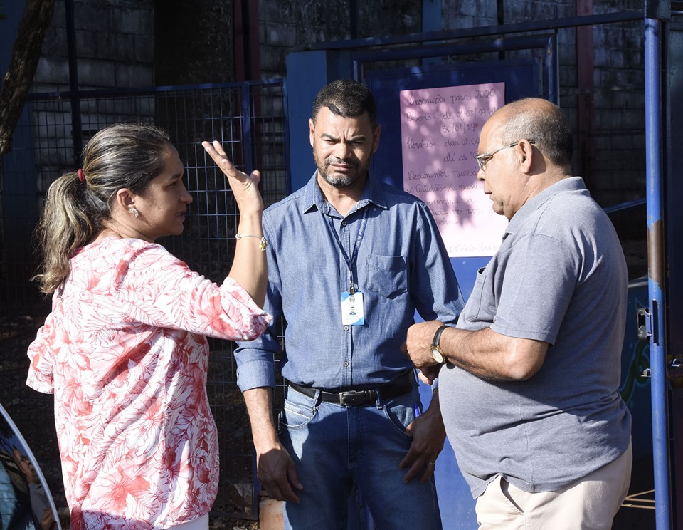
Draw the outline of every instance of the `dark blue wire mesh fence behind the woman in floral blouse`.
M265 203L287 194L282 81L164 88L141 92L33 97L2 167L4 256L0 276L0 401L38 459L60 506L65 506L52 399L26 387L26 347L50 311L30 278L36 272L33 229L51 182L80 167L80 151L97 130L119 122L164 128L185 165L194 201L184 233L158 242L218 284L235 251L238 210L223 173L201 142L218 140L240 170L261 171ZM75 135L73 123L80 123ZM0 246L0 249L2 246ZM207 392L218 426L221 472L216 514L255 518L254 457L248 417L236 385L234 343L212 339ZM11 384L7 384L10 381ZM36 428L36 426L39 426Z

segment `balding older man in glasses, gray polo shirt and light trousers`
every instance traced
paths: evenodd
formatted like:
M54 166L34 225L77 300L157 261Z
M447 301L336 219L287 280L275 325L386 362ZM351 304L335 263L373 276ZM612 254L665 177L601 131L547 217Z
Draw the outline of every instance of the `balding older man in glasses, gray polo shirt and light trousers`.
M628 277L607 215L571 176L561 110L529 98L482 128L477 175L509 219L457 327L408 330L482 529L609 529L630 483L618 393Z

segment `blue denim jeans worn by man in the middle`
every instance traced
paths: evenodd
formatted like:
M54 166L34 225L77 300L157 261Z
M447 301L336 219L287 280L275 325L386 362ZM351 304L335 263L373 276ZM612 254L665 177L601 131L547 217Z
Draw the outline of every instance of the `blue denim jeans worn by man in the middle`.
M441 529L434 478L403 484L406 469L398 469L419 400L415 387L386 402L344 407L287 388L280 439L304 489L300 504L285 503L285 529L346 530L354 484L377 529Z

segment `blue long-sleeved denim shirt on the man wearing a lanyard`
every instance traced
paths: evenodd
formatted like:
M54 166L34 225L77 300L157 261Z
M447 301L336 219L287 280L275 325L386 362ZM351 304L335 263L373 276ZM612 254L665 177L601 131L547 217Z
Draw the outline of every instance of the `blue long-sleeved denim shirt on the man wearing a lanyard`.
M324 199L316 175L263 213L268 238L265 311L275 319L255 341L238 343L241 390L275 386L277 317L287 322L281 361L287 380L354 388L386 383L412 367L400 348L415 310L425 321L455 324L464 306L423 202L368 177L356 208L342 217ZM345 326L341 293L349 291L349 266L332 229L350 258L364 217L353 279L364 296L365 323Z

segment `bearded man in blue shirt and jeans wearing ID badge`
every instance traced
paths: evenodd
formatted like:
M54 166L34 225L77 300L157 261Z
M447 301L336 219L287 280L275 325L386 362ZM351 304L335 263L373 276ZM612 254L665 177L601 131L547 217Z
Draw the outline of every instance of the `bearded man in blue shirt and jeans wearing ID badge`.
M258 478L285 501L285 528L345 529L355 484L378 527L440 529L438 393L420 415L401 344L415 310L455 323L462 295L428 207L369 175L380 136L369 90L330 83L309 130L317 171L263 214L265 311L287 321L279 436L277 325L236 352Z

